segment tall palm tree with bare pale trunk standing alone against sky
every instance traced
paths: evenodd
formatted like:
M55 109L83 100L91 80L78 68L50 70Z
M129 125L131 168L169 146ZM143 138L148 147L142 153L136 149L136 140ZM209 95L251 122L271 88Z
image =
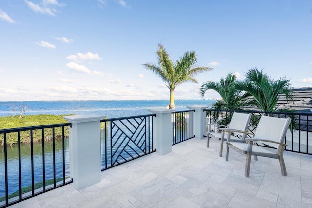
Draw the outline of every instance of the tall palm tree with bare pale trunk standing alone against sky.
M153 71L160 77L170 90L169 109L175 109L174 91L176 86L185 82L198 83L194 76L200 72L210 71L212 68L196 66L197 58L195 51L185 52L175 63L170 60L169 54L163 45L158 44L156 52L158 56L158 65L145 63L143 66Z

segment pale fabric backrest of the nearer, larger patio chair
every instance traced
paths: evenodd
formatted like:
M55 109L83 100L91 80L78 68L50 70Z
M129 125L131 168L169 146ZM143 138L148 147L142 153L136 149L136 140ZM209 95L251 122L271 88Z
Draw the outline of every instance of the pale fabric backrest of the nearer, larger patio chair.
M271 116L261 116L257 131L254 135L256 139L267 139L275 142L284 143L288 126L291 123L291 118L276 118ZM263 144L278 148L278 144L266 143Z

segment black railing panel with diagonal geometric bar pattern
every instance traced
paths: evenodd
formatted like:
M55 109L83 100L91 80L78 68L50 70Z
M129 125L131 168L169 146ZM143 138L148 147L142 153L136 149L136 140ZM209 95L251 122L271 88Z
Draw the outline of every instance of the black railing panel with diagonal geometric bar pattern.
M101 120L102 171L155 152L156 114Z

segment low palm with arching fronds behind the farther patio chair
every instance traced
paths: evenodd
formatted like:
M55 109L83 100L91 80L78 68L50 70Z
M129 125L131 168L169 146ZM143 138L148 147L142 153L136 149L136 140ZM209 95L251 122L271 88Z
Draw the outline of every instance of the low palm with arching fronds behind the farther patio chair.
M245 106L253 105L254 102L246 99L249 95L246 92L238 91L234 87L237 82L236 75L229 73L225 79L222 77L220 82L207 81L200 87L200 94L205 95L208 89L213 89L221 96L222 100L217 100L213 105L213 109L220 110L240 110Z

